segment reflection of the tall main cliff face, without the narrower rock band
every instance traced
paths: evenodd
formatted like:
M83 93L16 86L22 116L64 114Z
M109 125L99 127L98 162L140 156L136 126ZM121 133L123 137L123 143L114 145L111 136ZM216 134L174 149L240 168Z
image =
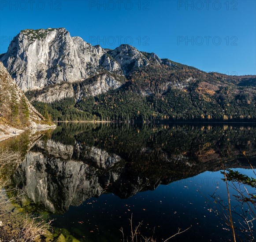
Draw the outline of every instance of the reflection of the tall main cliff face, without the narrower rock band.
M14 180L26 184L27 195L35 203L45 205L51 212L60 212L99 196L118 177L118 169L102 173L79 161L61 161L46 158L40 152L29 152Z

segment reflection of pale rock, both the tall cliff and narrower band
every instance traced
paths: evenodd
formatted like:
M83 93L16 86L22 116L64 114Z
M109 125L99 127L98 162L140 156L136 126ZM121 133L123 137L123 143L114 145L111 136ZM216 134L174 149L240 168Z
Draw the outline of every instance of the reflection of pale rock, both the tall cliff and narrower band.
M38 141L34 150L41 151L30 151L13 178L19 186L26 186L33 202L53 213L99 196L121 173L121 158L96 147L79 149L49 139ZM91 165L77 160L81 155Z

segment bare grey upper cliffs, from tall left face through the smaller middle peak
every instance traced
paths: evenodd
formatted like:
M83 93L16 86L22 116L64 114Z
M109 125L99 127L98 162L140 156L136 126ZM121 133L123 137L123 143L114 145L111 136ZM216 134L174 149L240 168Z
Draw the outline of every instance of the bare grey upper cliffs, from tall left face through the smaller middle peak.
M149 63L130 45L104 50L80 37L71 37L63 28L22 30L0 60L22 91L79 81L102 69L127 75L132 68Z

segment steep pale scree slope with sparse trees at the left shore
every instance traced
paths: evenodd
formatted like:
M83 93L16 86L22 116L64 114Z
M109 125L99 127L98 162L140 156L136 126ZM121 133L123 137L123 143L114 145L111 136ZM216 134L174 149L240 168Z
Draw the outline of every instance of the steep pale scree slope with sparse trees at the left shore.
M0 62L0 140L20 133L22 129L51 126L55 125L30 104Z

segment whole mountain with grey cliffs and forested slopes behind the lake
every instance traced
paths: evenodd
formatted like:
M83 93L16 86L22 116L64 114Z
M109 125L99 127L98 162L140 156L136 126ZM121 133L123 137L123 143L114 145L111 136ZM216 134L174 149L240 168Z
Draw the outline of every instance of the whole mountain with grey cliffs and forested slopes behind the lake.
M22 30L0 60L56 121L256 120L256 76L206 73L127 44L103 49L63 28Z

